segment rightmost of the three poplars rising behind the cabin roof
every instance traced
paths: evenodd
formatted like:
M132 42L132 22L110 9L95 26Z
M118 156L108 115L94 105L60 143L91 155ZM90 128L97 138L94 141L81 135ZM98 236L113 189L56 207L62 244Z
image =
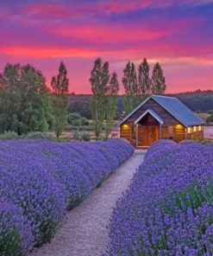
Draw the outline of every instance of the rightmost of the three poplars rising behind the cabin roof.
M165 94L166 91L166 80L159 62L157 62L153 67L151 90L152 94L155 95Z

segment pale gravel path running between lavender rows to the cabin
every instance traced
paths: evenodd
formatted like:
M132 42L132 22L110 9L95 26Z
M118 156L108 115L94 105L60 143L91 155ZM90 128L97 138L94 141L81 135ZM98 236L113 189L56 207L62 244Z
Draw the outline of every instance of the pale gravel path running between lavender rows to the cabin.
M100 256L109 240L106 226L112 208L128 188L144 154L145 150L135 150L108 180L67 214L66 223L51 243L36 248L30 256Z

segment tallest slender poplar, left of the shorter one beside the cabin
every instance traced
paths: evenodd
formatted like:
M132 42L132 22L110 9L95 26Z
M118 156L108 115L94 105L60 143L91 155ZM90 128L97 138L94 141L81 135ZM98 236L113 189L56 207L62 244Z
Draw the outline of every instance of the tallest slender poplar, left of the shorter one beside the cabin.
M105 118L106 109L106 93L108 92L108 82L110 80L109 63L98 58L91 70L91 115L96 139L100 137L103 128L103 120Z

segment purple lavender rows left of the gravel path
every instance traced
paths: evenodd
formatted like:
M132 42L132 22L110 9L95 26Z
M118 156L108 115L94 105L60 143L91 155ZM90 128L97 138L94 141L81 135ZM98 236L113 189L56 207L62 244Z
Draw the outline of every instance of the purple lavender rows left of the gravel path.
M0 142L0 254L25 255L51 240L67 210L82 202L133 151L121 139Z

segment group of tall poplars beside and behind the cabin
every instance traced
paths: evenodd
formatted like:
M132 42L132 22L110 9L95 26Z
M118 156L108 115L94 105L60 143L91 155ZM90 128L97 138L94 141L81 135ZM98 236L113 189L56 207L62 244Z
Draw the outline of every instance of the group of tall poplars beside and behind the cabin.
M106 61L102 64L102 60L98 58L91 70L90 82L92 92L91 117L95 135L97 139L100 137L104 124L105 138L108 138L113 120L116 118L119 91L117 74L114 72L110 75L109 62ZM153 74L150 78L146 58L139 65L138 74L135 70L135 64L128 61L123 69L122 84L125 89L123 105L126 114L138 106L148 94L164 94L166 91L166 80L159 62L154 65Z

